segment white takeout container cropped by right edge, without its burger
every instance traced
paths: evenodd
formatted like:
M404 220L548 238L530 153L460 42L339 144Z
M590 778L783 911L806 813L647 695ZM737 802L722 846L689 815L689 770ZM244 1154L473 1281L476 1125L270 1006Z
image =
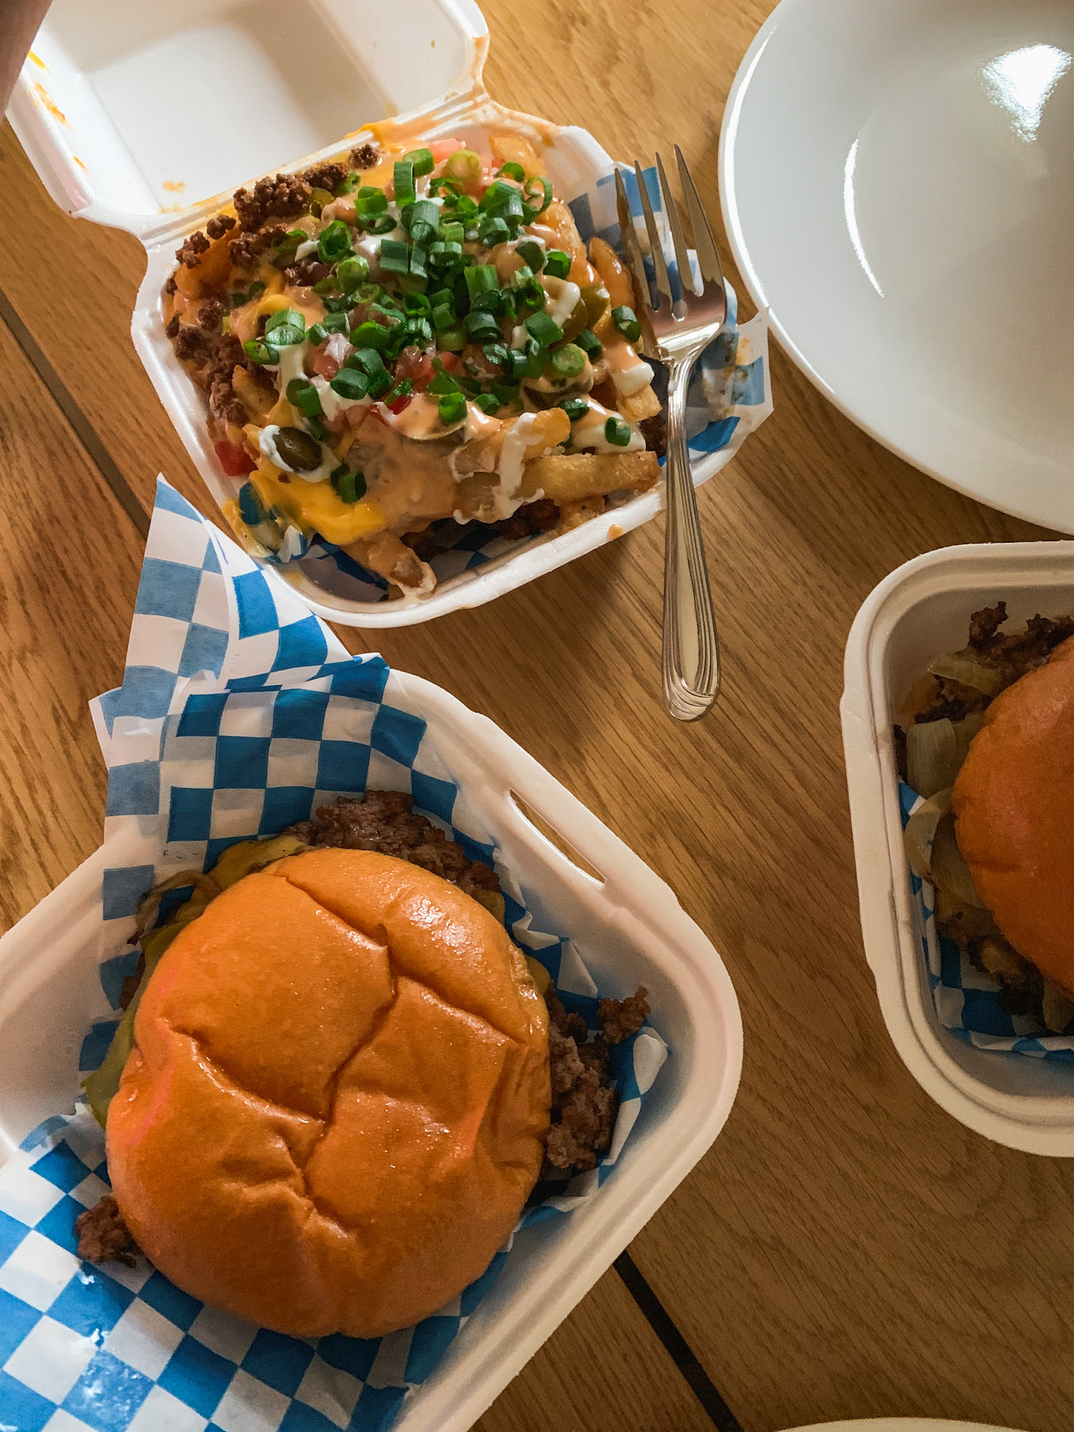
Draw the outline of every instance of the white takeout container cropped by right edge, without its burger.
M865 600L846 643L841 705L865 955L906 1068L949 1114L1027 1153L1074 1157L1074 1068L978 1050L937 1018L911 901L892 726L939 652L965 646L969 616L1074 611L1074 541L945 547L899 567Z

